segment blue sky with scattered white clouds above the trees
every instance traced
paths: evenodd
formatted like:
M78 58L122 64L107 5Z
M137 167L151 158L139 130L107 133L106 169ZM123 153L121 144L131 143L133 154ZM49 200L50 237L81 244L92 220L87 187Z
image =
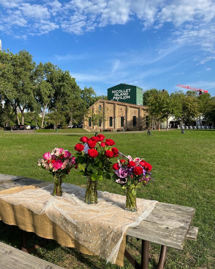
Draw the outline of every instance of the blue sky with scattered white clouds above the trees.
M214 96L214 17L214 0L0 0L0 39L98 95L119 83L169 92L180 83Z

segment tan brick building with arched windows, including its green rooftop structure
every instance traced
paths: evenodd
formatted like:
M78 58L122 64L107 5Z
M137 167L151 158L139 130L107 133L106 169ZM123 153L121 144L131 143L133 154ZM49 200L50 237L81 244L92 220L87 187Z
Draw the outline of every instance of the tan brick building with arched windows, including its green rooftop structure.
M107 89L107 99L99 99L89 108L89 118L85 118L84 129L92 131L95 126L90 115L98 110L106 111L107 121L100 122L97 130L141 130L147 127L146 107L143 103L143 89L126 83Z

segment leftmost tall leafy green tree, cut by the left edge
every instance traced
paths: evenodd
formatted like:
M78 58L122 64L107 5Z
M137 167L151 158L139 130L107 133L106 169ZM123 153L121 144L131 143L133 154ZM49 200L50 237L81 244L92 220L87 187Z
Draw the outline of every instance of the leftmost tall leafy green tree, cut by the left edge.
M21 124L24 124L24 111L30 109L34 100L33 70L35 63L32 55L22 50L18 54L0 53L0 91L4 100L8 100L17 117L17 107L21 111Z

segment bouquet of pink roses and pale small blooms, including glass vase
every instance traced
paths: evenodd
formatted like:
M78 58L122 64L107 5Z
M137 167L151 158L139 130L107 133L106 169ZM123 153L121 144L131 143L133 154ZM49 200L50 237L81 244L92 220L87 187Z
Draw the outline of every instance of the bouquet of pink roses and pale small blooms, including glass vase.
M71 168L78 168L75 157L73 157L68 150L64 150L63 148L55 148L51 153L44 153L43 158L38 161L38 166L48 170L49 174L53 176L53 196L62 196L62 180L68 175Z

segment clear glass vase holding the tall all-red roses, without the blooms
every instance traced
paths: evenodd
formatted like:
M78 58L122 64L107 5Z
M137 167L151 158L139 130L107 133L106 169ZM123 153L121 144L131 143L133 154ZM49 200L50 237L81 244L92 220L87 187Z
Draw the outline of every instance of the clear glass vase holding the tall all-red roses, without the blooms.
M86 204L97 204L98 201L97 185L98 185L97 179L93 181L91 177L87 176L87 188L84 200Z

